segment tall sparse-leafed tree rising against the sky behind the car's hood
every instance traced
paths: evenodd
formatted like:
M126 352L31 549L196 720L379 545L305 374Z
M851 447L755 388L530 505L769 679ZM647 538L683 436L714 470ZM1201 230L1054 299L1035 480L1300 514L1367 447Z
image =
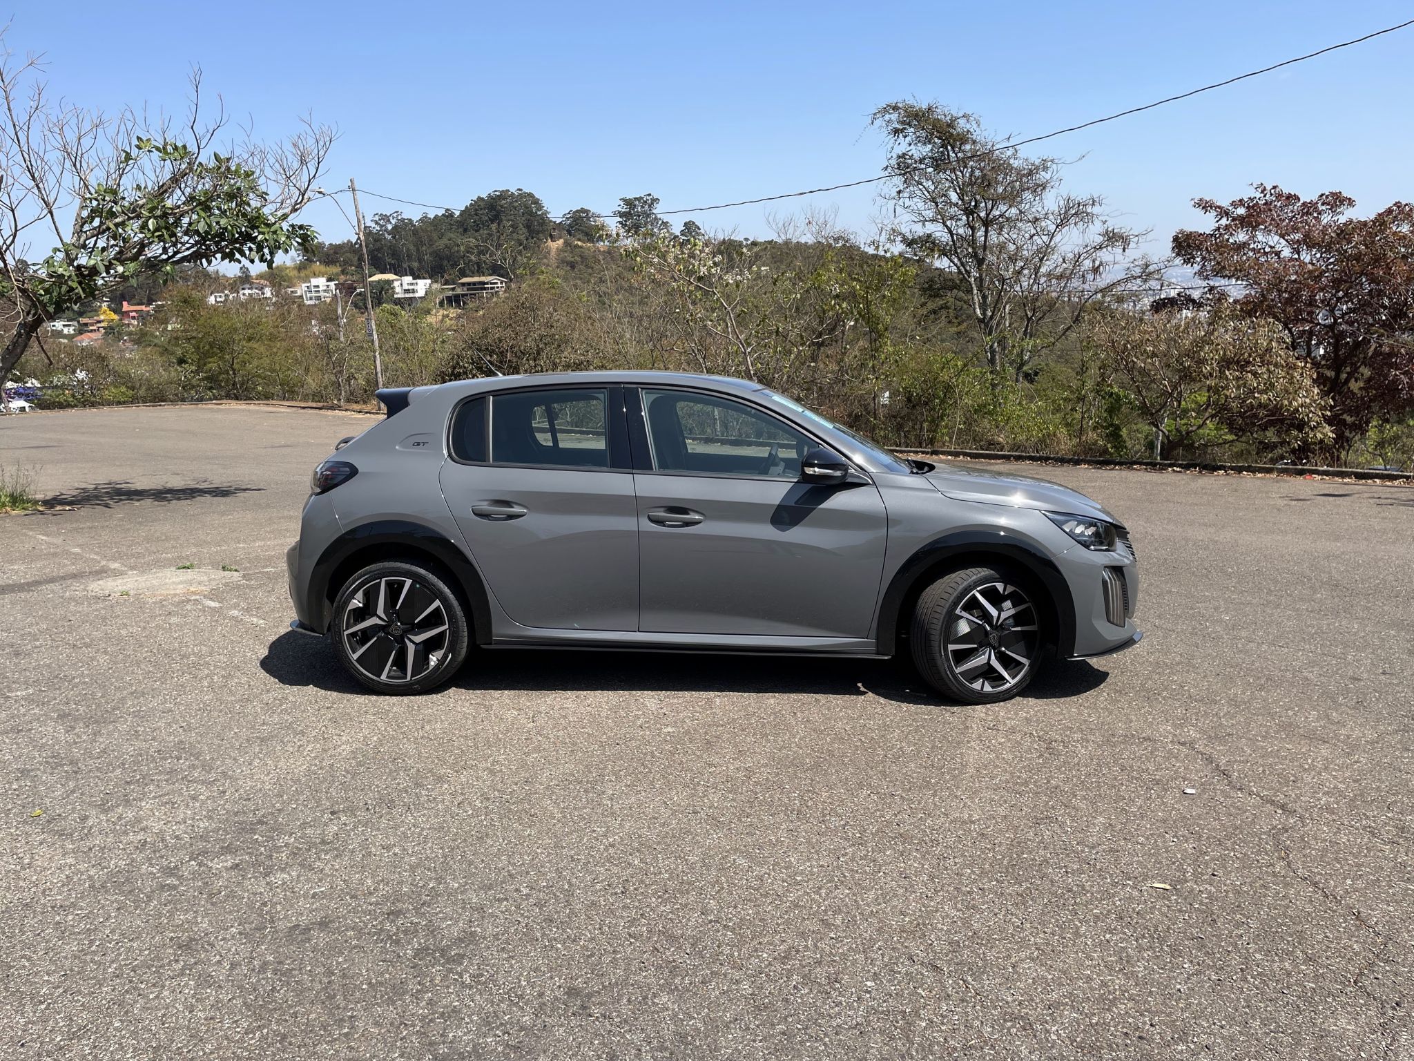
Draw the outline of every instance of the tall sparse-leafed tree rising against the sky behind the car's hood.
M888 137L895 236L956 274L993 372L1019 381L1092 301L1150 270L1127 262L1144 233L1111 225L1099 195L1062 192L1058 160L937 103L887 103L872 122Z

